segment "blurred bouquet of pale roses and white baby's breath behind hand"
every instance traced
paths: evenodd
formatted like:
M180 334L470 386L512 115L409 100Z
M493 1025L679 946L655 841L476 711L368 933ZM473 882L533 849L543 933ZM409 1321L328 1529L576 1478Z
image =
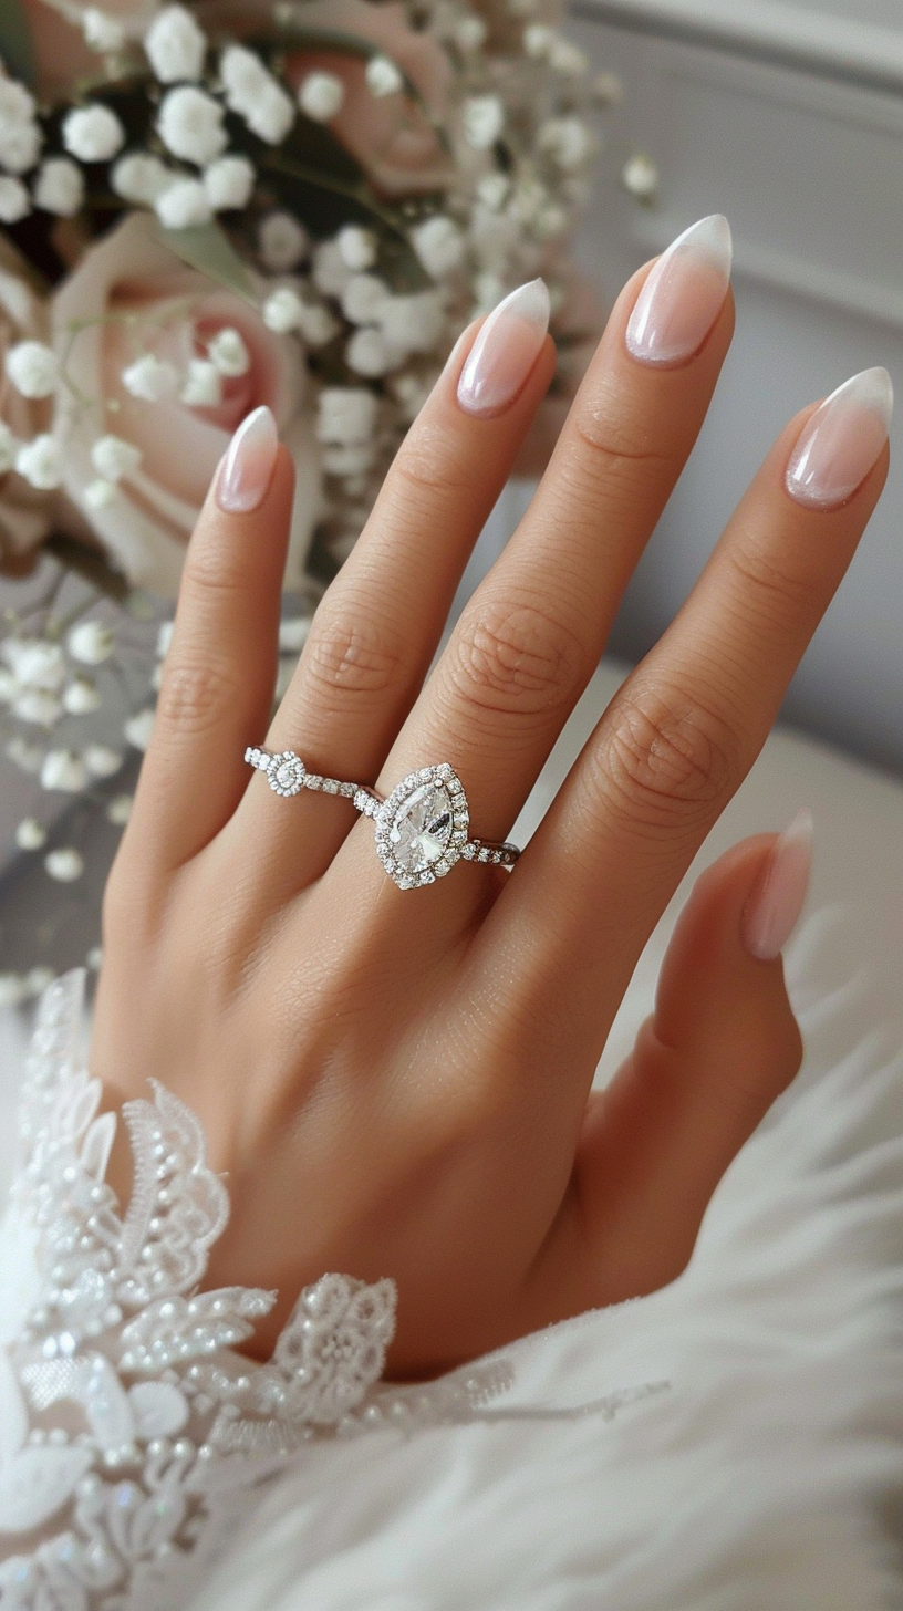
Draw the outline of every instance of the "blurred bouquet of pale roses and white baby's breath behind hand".
M3 0L0 569L52 569L6 611L0 701L45 791L124 815L153 691L108 678L113 719L98 667L129 614L156 630L252 408L297 466L293 662L464 324L543 274L568 385L587 116L616 84L547 6ZM77 733L102 704L113 746ZM74 880L79 852L45 865Z

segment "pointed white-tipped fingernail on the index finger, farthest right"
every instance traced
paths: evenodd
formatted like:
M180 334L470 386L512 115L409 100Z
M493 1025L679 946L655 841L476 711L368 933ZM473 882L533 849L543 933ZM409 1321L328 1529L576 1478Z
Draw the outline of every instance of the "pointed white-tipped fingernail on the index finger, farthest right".
M893 385L887 369L845 380L803 425L787 466L787 491L809 509L837 509L853 496L887 441Z

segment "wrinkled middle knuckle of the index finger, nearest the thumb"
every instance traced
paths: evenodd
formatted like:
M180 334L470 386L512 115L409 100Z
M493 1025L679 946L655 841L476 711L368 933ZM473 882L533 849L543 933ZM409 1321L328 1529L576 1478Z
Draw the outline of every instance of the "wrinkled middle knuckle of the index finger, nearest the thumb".
M610 809L634 826L708 818L739 773L739 739L700 698L635 690L616 702L597 749Z

